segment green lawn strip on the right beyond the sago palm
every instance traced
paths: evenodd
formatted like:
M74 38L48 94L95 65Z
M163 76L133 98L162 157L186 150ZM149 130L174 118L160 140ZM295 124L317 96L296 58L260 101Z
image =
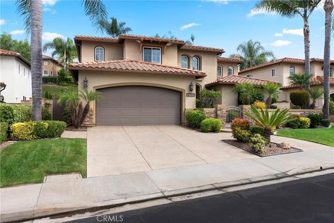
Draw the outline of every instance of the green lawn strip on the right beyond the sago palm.
M332 128L279 130L277 134L282 137L303 139L305 141L313 141L318 144L334 147L334 126L332 126Z

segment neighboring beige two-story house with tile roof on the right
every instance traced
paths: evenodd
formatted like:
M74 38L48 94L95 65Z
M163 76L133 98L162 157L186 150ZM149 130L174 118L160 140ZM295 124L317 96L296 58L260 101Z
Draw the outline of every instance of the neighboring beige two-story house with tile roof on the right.
M324 61L322 59L311 58L311 73L313 75L311 79L311 88L323 88L323 76L324 76ZM331 97L334 98L334 61L331 61ZM278 82L282 84L283 92L280 93L278 100L289 99L289 93L296 90L296 86L289 83L289 75L295 73L305 73L305 61L303 59L283 58L264 63L259 66L254 66L239 71L239 75L250 78L265 79L268 81ZM323 98L317 101L316 106L322 107L324 104Z

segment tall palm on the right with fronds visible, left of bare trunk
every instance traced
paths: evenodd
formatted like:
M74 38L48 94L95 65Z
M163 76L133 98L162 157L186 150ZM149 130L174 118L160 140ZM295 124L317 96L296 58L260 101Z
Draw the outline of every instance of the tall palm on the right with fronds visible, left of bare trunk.
M308 18L317 8L321 0L262 0L257 3L255 8L267 10L268 12L278 13L283 17L296 17L300 15L304 22L304 51L305 51L305 73L310 75L310 26ZM305 86L310 90L310 84Z

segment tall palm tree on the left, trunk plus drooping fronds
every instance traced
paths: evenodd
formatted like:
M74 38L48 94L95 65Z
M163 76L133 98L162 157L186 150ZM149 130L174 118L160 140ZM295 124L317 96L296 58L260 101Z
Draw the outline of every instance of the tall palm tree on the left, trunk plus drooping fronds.
M102 0L81 0L85 14L97 29L106 20L106 6ZM31 86L33 121L42 120L42 0L16 0L17 11L24 17L24 28L31 32Z

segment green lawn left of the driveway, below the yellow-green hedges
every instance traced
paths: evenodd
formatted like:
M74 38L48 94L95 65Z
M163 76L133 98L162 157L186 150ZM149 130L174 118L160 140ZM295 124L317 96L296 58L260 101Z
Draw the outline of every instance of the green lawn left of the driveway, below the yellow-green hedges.
M0 186L42 183L46 174L81 172L86 177L86 159L86 139L20 141L0 153Z

